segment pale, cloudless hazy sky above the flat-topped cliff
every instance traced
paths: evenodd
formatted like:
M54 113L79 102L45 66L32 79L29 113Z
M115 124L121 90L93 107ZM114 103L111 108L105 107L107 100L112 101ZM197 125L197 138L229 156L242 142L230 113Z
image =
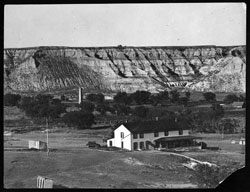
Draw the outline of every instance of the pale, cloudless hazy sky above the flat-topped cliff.
M243 3L6 5L4 47L245 45Z

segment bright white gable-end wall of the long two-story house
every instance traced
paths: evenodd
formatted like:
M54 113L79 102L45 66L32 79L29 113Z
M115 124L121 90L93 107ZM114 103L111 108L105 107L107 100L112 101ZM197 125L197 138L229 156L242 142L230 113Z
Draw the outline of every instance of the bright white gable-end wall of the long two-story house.
M121 138L121 133L124 134L124 138ZM112 146L121 148L123 142L123 148L132 150L131 148L131 133L130 131L121 125L114 131L114 138L107 140L107 146L109 147L109 141L112 141Z

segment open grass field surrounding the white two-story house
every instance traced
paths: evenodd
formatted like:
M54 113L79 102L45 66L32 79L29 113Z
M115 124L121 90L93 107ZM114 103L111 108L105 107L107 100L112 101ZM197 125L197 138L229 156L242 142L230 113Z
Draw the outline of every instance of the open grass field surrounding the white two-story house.
M28 151L29 140L46 141L44 125L32 123L17 108L5 108L4 130L19 127L26 132L4 136L4 187L36 188L38 175L51 178L56 185L68 188L196 188L194 172L182 163L187 159L160 151L121 152L87 148L88 141L101 145L111 129L72 130L53 126L49 132L51 152ZM26 124L25 124L26 123ZM33 128L31 127L33 124ZM8 125L8 126L6 126ZM11 125L11 126L10 126ZM243 134L202 134L208 146L219 146L220 151L201 150L183 152L187 156L232 171L245 165L240 145L231 144Z

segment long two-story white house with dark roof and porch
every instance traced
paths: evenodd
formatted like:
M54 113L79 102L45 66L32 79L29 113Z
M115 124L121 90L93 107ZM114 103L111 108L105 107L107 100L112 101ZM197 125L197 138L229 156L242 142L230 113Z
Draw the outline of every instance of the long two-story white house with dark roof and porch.
M127 150L191 146L193 140L201 139L191 136L186 122L177 119L123 123L113 135L114 138L107 140L107 146Z

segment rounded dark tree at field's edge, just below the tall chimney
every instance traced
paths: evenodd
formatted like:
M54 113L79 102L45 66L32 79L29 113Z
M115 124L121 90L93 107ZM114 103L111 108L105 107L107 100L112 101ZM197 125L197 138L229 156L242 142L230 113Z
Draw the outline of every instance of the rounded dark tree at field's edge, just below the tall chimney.
M76 127L77 129L89 129L94 123L95 116L92 113L86 111L72 111L66 113L62 117L62 121L71 127Z

